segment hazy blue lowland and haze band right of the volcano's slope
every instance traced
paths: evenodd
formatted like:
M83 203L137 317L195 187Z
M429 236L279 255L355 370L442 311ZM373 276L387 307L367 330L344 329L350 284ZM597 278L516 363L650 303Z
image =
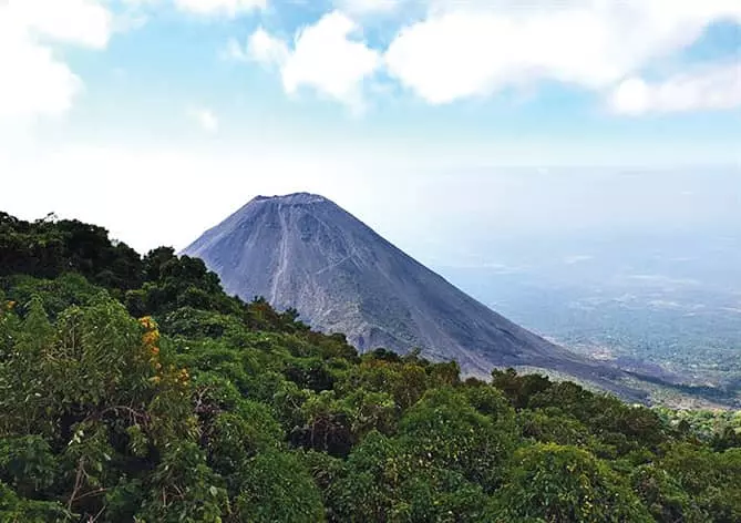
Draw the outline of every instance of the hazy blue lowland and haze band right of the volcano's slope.
M414 194L445 205L392 239L485 305L624 368L739 390L738 166L482 168Z

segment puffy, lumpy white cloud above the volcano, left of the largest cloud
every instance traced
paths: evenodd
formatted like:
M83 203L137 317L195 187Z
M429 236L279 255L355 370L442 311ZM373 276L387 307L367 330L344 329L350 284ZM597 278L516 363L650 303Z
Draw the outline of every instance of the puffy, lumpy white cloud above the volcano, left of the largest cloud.
M261 28L249 38L247 50L253 59L279 68L287 93L307 86L358 109L363 80L381 66L377 51L352 39L358 30L352 20L335 11L298 31L292 50Z

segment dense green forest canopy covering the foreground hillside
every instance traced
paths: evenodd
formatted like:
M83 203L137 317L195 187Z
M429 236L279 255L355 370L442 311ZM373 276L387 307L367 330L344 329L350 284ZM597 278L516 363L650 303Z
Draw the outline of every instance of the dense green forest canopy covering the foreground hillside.
M358 355L168 248L0 214L2 522L738 522L738 417Z

